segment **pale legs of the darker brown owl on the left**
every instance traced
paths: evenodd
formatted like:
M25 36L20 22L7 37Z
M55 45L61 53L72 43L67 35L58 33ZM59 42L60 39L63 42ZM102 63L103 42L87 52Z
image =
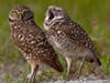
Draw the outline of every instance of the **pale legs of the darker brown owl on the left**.
M29 75L29 83L36 83L35 75L38 70L38 65L31 65L31 74Z

